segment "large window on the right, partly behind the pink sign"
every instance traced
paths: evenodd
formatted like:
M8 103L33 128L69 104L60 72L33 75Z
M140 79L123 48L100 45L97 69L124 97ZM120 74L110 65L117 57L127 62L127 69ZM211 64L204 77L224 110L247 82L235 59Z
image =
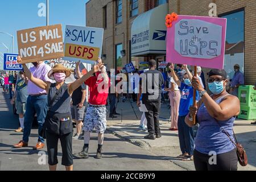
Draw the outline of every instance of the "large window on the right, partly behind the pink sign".
M244 72L245 11L233 11L219 17L227 19L224 69L230 79L234 75L235 64L239 64L240 71Z

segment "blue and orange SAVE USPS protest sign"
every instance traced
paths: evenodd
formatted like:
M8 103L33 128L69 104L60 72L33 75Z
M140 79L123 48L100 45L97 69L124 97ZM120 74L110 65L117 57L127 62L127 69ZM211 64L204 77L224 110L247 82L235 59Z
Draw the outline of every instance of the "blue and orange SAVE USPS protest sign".
M101 57L103 28L67 25L64 40L64 60L96 63Z

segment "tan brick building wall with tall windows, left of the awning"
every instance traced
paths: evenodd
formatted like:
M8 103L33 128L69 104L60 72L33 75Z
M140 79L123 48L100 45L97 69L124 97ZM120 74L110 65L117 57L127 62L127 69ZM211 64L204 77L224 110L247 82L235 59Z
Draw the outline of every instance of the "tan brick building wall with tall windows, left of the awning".
M167 3L167 0L90 0L86 3L86 26L104 28L102 58L108 68L122 69L133 61L152 57L131 56L131 26L144 12ZM121 52L122 51L122 52Z

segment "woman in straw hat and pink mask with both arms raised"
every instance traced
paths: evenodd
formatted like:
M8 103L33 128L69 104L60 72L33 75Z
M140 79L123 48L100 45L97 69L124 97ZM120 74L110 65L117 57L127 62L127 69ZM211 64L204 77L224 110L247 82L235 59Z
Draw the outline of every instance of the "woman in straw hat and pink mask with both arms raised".
M21 58L18 56L18 61ZM62 164L67 171L73 170L73 155L72 155L72 117L71 117L71 96L72 93L82 85L93 73L100 71L102 64L97 64L86 75L71 84L65 84L65 78L71 75L71 71L61 64L55 65L48 73L48 78L55 80L56 83L40 80L32 75L23 64L24 72L28 79L35 85L46 90L48 93L48 111L45 122L45 132L47 139L48 163L50 171L56 171L57 167L57 145L60 139L63 157Z

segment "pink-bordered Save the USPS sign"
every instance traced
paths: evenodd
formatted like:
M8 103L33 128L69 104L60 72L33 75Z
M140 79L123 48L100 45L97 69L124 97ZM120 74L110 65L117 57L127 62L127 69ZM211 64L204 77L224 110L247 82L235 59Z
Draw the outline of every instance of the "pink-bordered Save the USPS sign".
M167 60L223 69L225 40L225 18L179 15L167 28Z

